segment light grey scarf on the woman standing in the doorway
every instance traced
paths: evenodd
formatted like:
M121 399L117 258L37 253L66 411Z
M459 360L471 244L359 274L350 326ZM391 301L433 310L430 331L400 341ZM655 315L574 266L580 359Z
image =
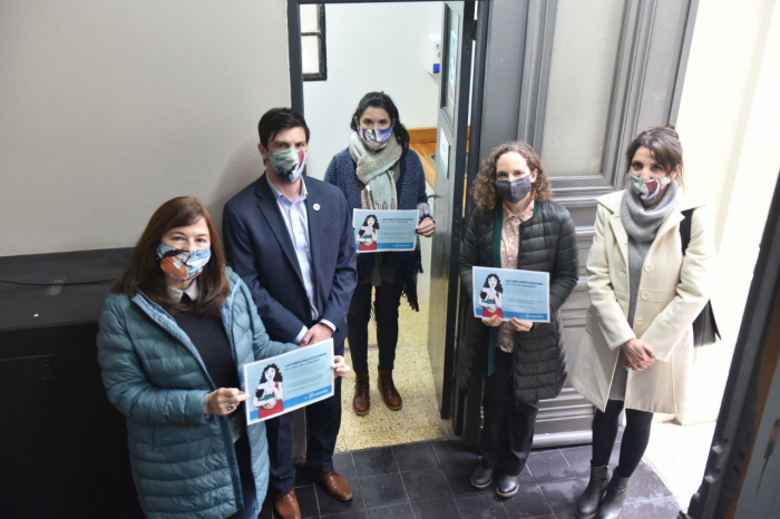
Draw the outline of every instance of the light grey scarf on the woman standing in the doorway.
M370 151L365 149L358 134L352 133L349 149L352 160L357 164L355 174L365 185L360 196L363 209L398 209L392 167L401 158L403 148L394 136L390 137L384 148Z

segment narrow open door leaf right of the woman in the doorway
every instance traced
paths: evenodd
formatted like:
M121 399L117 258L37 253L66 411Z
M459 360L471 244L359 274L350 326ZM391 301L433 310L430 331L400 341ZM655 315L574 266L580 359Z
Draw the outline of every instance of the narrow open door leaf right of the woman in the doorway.
M464 218L475 1L446 1L437 127L428 353L442 418L449 418L458 310L458 256Z

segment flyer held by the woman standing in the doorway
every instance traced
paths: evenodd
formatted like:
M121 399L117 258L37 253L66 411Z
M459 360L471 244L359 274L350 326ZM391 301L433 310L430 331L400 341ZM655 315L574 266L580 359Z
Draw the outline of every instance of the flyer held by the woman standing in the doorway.
M420 213L415 210L354 209L354 246L358 254L413 251Z

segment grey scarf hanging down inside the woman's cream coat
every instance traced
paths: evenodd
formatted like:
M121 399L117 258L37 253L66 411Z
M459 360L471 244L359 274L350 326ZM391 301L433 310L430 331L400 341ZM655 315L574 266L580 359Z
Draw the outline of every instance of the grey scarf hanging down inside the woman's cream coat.
M647 256L650 246L659 233L659 227L677 205L676 182L666 186L666 193L655 206L646 208L642 205L638 195L628 188L623 194L621 202L621 219L623 227L628 234L628 324L634 325L634 314L636 313L636 294L642 281L642 267Z

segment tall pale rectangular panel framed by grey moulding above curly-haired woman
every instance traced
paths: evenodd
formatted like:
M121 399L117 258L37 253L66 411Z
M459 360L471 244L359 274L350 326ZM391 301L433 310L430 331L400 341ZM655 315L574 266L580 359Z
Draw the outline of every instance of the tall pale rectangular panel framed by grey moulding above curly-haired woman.
M558 2L542 159L550 176L602 174L624 2Z

